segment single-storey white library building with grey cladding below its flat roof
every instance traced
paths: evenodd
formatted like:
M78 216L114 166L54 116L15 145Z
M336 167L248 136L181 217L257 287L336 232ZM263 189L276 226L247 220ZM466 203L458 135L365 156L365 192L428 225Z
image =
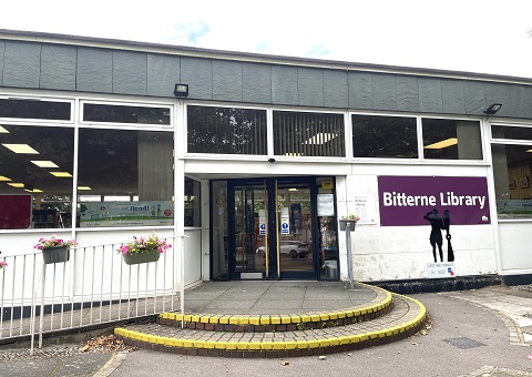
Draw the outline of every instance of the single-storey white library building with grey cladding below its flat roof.
M0 30L0 144L1 257L157 234L186 285L532 274L532 79Z

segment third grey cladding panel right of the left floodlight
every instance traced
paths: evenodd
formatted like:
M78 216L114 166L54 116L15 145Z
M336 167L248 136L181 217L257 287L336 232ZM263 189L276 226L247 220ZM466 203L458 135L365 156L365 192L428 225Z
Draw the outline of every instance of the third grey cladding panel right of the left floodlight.
M272 65L243 63L242 100L244 102L272 103Z

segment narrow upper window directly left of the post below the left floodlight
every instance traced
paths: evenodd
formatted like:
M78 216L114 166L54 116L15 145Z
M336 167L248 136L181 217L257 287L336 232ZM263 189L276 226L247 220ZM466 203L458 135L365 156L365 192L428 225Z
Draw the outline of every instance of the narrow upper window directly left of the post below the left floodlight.
M84 103L83 121L170 125L170 108Z

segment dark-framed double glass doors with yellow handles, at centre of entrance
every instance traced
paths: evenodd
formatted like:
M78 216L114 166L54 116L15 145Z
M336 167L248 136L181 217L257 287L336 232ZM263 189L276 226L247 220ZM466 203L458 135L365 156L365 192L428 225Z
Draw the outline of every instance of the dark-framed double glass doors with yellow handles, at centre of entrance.
M232 181L233 278L317 278L315 191L313 181L301 179Z

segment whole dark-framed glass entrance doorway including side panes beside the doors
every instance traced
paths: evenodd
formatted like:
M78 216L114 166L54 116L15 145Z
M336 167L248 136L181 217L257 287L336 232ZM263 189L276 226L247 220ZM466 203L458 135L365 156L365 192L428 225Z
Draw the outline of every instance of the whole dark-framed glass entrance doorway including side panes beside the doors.
M337 279L332 182L331 177L226 181L225 278ZM320 201L325 195L327 201ZM219 204L223 198L217 195L214 201ZM319 205L330 207L329 216L319 216ZM221 212L218 205L215 215ZM213 224L216 234L222 227L217 217ZM222 242L219 235L212 240L213 253L221 251L216 245ZM213 261L219 265L221 257L214 256Z

